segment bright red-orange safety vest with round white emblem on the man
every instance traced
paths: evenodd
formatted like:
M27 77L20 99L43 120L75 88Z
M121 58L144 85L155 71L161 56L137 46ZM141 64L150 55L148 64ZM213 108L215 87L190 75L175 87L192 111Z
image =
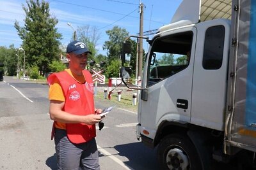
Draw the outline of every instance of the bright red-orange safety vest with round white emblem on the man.
M61 88L65 96L63 111L74 115L95 114L93 101L93 81L89 71L83 71L85 83L77 82L67 71L53 73L47 81L49 85L55 78L60 81ZM87 124L66 124L67 137L72 143L84 143L96 136L95 125Z

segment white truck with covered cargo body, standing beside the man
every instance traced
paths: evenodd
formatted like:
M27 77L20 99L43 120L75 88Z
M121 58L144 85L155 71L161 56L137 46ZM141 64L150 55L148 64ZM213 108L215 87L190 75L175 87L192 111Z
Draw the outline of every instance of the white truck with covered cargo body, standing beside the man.
M243 151L254 162L256 1L184 0L148 43L136 134L158 147L161 169L208 169Z

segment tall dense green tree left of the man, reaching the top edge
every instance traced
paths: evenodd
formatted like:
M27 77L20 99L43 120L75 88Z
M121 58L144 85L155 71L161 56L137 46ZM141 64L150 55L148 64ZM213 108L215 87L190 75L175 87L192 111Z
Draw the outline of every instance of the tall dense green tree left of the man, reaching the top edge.
M58 20L51 17L49 3L44 0L27 0L28 7L22 4L26 13L24 27L15 21L14 27L22 39L22 48L26 52L26 63L38 66L40 74L50 71L48 64L59 60L61 34L55 28Z

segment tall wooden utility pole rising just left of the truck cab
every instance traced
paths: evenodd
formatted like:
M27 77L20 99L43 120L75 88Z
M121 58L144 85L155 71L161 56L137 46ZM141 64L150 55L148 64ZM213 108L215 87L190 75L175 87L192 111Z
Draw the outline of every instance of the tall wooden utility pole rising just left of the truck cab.
M144 4L140 3L140 37L143 36L143 10L144 10ZM140 79L142 77L142 63L143 63L143 39L140 38L140 45L139 45L139 70L138 70L138 76L140 76Z

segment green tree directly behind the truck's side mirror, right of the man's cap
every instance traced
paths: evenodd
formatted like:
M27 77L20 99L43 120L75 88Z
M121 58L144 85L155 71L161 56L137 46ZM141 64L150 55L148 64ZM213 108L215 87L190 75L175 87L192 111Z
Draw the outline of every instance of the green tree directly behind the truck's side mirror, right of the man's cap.
M104 42L103 50L108 50L107 55L110 63L113 59L119 59L122 43L129 36L129 32L115 26L113 29L106 31L106 34L109 36L109 41Z

